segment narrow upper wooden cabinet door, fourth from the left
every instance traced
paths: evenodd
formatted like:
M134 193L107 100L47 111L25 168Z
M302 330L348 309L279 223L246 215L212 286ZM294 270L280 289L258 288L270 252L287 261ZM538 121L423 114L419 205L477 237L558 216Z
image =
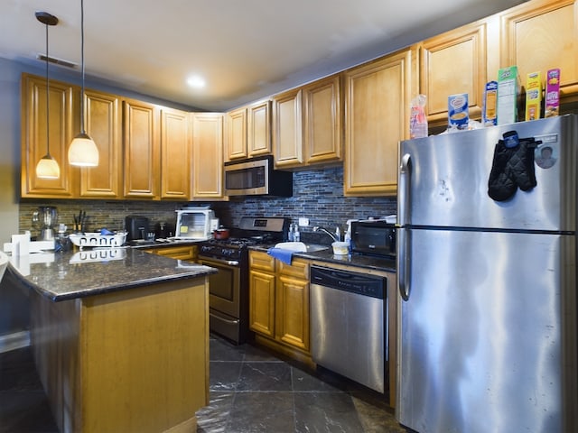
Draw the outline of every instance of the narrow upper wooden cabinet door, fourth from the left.
M191 199L191 115L161 110L161 198Z

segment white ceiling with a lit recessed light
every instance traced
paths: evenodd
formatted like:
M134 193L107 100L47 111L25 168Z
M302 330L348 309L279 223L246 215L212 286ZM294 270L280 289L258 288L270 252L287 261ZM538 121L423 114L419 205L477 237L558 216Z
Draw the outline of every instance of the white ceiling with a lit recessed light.
M86 75L225 111L524 1L84 0ZM60 20L50 56L79 65L80 0L2 0L0 57L43 65L36 11ZM188 88L194 74L205 88Z

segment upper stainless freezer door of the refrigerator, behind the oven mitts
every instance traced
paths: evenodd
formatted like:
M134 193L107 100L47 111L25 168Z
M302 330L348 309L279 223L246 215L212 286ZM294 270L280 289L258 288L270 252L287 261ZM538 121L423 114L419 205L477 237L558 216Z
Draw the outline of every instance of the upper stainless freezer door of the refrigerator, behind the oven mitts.
M398 209L401 225L490 227L574 231L576 130L578 117L564 115L532 122L443 134L400 143ZM513 198L488 195L494 149L502 134L541 140L534 152L536 187L517 189ZM545 147L551 162L541 160Z

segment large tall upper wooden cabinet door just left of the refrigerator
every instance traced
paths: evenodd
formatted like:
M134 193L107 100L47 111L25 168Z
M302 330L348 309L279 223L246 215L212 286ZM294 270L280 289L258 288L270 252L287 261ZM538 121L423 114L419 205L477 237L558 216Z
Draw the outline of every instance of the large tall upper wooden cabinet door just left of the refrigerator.
M397 144L409 138L409 105L417 92L415 49L345 71L346 196L397 190Z

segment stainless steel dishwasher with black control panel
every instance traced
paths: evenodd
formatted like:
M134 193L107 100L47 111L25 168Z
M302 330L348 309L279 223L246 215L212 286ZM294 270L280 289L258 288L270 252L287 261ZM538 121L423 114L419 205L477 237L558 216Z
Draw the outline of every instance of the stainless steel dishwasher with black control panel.
M384 393L387 279L312 265L310 281L313 361Z

